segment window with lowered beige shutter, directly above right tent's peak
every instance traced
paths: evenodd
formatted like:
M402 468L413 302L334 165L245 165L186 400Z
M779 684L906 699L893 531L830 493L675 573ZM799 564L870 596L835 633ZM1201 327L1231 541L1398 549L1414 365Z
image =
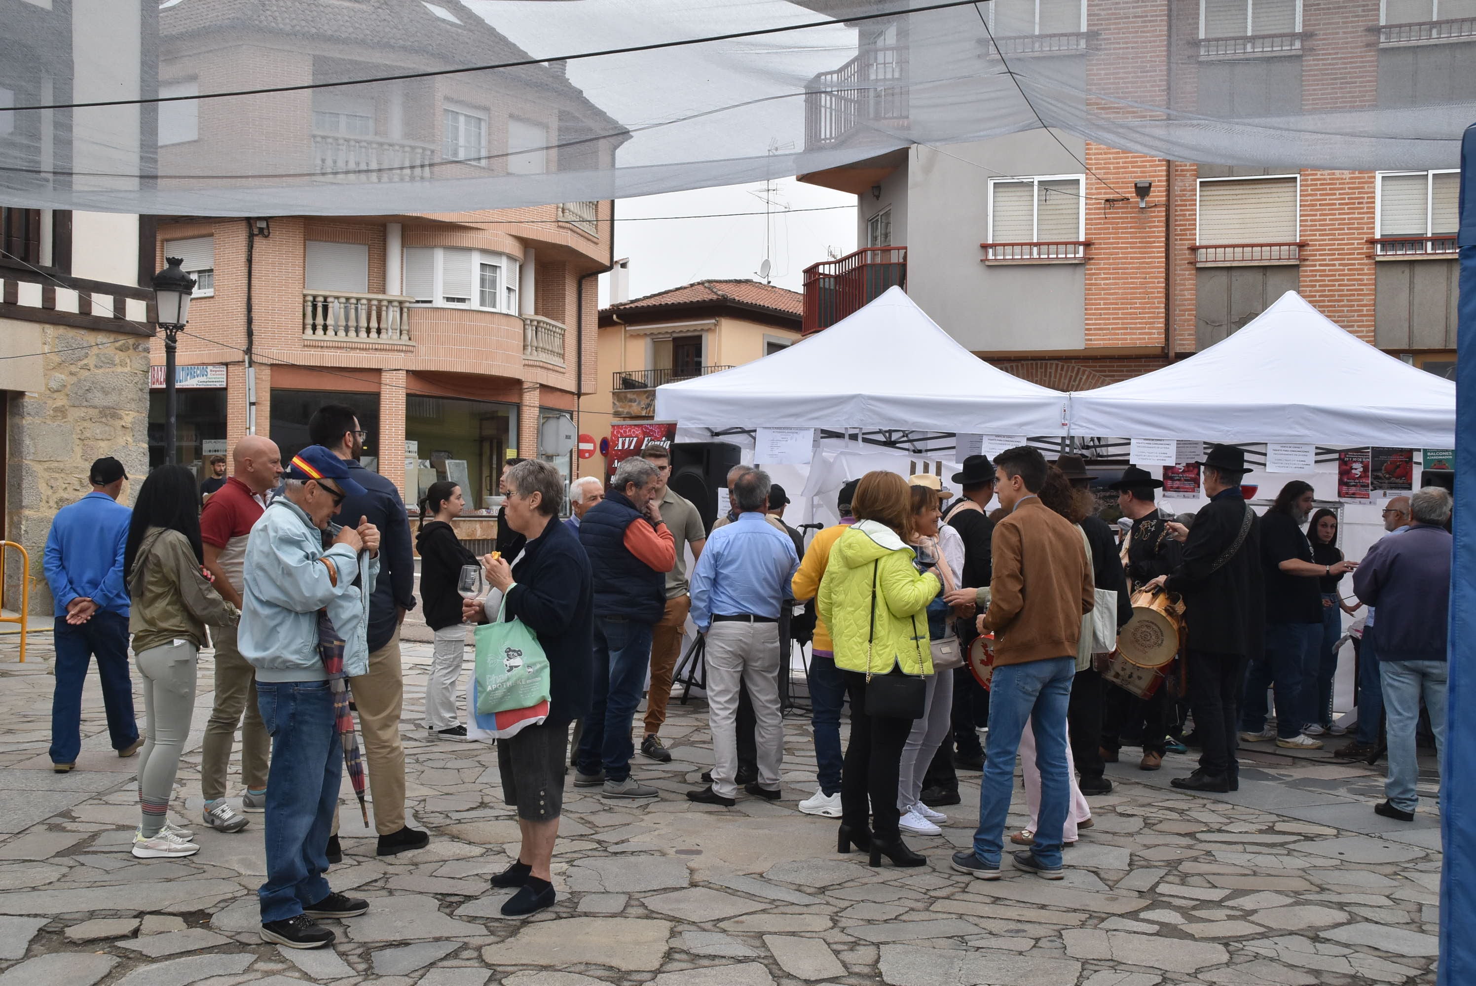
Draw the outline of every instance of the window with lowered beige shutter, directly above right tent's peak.
M1294 263L1297 176L1200 179L1197 221L1201 264Z

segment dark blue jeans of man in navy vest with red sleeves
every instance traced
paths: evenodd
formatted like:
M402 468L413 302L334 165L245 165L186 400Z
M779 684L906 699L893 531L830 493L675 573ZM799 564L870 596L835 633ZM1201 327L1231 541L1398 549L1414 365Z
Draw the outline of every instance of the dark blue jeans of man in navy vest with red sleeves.
M595 617L595 689L579 735L579 772L607 781L630 776L630 719L651 661L651 624Z

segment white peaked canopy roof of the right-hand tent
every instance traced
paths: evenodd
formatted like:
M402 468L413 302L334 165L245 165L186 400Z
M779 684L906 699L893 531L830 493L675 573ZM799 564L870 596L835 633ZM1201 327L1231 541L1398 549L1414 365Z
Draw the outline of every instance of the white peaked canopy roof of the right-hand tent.
M1455 446L1455 384L1386 356L1287 291L1190 359L1070 396L1073 435Z

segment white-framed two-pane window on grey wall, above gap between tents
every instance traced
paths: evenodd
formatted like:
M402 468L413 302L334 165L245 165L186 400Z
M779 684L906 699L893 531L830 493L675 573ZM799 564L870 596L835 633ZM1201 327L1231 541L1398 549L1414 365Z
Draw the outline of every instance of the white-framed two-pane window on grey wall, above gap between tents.
M1086 176L989 179L984 260L1083 260Z

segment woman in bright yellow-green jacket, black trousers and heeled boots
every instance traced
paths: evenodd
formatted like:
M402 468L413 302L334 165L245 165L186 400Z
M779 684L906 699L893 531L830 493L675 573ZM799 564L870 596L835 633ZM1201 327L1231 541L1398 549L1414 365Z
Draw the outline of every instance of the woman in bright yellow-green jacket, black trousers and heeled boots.
M855 846L871 852L872 866L883 856L897 866L921 866L927 861L908 849L897 830L897 770L912 720L868 716L866 679L933 672L925 610L942 583L931 570L918 570L906 545L912 523L906 480L868 472L852 511L856 523L831 548L815 599L850 695L838 852Z

